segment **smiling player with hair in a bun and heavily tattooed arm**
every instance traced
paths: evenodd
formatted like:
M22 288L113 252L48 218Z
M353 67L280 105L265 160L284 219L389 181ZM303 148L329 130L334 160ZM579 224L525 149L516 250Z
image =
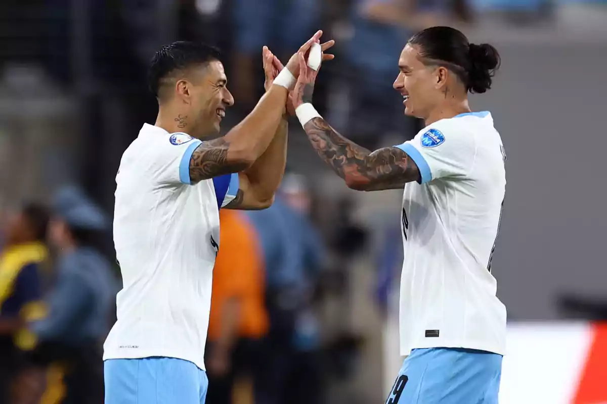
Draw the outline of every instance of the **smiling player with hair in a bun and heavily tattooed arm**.
M506 308L495 296L491 256L506 157L491 114L470 111L467 94L489 90L499 62L492 45L470 44L453 28L414 35L393 86L405 114L424 119L426 128L373 152L314 110L316 71L302 70L293 90L313 147L348 187L404 188L400 345L407 358L389 404L498 402Z

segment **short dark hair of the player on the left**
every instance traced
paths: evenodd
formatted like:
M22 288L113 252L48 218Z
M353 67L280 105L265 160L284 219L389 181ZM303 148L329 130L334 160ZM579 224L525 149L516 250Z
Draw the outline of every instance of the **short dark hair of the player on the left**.
M219 61L219 49L198 42L177 41L164 45L156 52L148 70L148 85L154 96L158 97L158 90L162 81L176 70L185 70L198 64Z

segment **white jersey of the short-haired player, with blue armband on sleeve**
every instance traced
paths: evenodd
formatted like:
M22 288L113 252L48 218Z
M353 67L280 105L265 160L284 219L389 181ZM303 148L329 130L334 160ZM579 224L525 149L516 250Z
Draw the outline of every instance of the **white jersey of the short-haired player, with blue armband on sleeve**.
M238 176L190 185L199 144L145 124L124 151L114 210L123 289L104 360L173 357L205 369L219 208L236 195Z

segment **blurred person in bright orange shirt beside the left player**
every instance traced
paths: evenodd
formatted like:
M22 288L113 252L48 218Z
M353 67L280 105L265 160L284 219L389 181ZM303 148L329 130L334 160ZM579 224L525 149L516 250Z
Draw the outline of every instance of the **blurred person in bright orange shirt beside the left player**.
M263 259L246 216L220 210L220 248L213 270L206 366L209 403L232 402L237 377L257 376L261 339L268 332ZM255 379L255 377L253 378ZM253 380L254 389L258 389ZM250 398L249 398L250 400ZM257 402L257 400L256 400Z

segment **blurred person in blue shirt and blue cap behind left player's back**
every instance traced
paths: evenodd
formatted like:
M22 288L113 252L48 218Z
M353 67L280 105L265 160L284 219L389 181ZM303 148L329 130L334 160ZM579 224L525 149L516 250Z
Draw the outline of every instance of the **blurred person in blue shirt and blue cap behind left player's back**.
M37 340L32 360L41 369L64 365L61 403L103 403L100 346L116 288L109 262L90 240L108 222L76 188L60 191L53 210L49 239L58 251L56 282L46 299L47 316L30 324Z

